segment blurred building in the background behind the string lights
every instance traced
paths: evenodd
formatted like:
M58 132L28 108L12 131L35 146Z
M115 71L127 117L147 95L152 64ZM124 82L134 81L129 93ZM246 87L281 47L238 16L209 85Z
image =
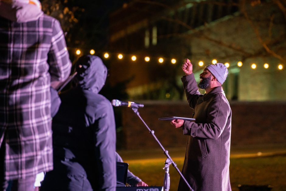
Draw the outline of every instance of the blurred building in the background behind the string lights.
M285 101L285 8L282 0L130 1L110 15L110 82L130 80L131 99L183 99L184 59L197 81L215 59L229 65L229 100Z

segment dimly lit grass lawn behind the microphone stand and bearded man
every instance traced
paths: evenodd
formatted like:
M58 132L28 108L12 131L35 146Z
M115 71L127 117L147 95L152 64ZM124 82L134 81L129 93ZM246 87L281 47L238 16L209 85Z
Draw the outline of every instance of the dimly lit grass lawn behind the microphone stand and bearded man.
M183 158L175 157L174 162L181 170ZM149 186L163 186L165 159L127 160L129 169ZM176 191L179 173L170 165L170 191ZM230 181L233 191L238 185L271 185L271 191L286 191L286 155L268 157L231 158Z

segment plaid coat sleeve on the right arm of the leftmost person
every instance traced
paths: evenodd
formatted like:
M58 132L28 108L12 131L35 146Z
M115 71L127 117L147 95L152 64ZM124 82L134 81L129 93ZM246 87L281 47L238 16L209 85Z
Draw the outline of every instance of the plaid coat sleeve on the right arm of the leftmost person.
M70 72L72 63L69 59L65 36L58 20L54 19L53 36L51 38L51 47L48 52L48 64L51 82L65 81Z

